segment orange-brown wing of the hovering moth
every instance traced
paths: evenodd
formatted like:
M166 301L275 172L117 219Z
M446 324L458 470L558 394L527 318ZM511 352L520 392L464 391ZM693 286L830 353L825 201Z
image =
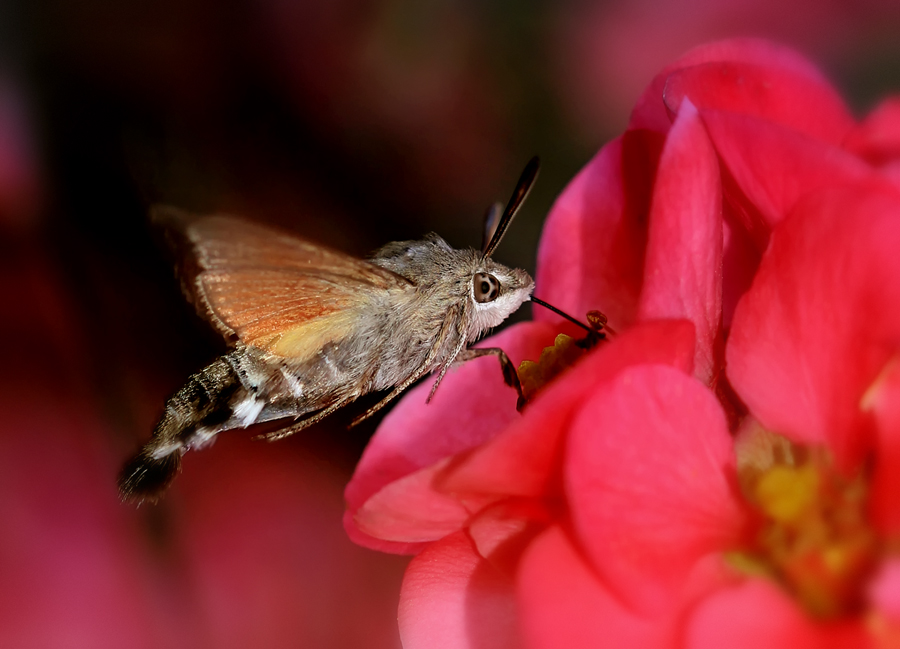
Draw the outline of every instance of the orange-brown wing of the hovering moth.
M170 207L152 218L176 252L189 253L182 284L200 314L226 337L289 360L344 337L378 293L411 287L367 261L239 218Z

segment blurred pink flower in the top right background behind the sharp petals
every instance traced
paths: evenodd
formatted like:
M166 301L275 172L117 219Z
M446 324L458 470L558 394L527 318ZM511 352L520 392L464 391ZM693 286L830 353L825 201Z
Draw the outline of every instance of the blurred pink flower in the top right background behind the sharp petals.
M552 41L554 79L583 136L607 136L659 69L696 43L753 35L846 73L896 56L900 8L884 0L664 0L566 3ZM848 78L847 82L851 82Z

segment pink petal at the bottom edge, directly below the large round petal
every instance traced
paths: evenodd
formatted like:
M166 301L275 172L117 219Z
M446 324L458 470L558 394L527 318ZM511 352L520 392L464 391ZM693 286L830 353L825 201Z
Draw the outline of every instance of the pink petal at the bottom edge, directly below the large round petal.
M531 649L681 646L673 616L647 618L625 608L559 527L531 544L516 586Z

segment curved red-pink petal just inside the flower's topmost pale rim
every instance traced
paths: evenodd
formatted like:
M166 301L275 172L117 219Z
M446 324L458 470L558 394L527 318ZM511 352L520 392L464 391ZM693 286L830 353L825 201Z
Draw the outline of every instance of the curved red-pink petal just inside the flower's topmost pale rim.
M737 62L684 68L666 80L664 99L678 113L689 99L701 111L757 117L839 146L854 126L835 89L791 69Z

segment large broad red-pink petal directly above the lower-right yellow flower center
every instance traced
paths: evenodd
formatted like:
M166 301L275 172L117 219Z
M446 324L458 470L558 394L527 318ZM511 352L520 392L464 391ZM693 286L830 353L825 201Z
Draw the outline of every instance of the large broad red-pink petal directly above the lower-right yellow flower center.
M770 430L827 443L845 467L869 443L860 399L900 337L900 199L872 186L801 202L738 304L728 376Z

